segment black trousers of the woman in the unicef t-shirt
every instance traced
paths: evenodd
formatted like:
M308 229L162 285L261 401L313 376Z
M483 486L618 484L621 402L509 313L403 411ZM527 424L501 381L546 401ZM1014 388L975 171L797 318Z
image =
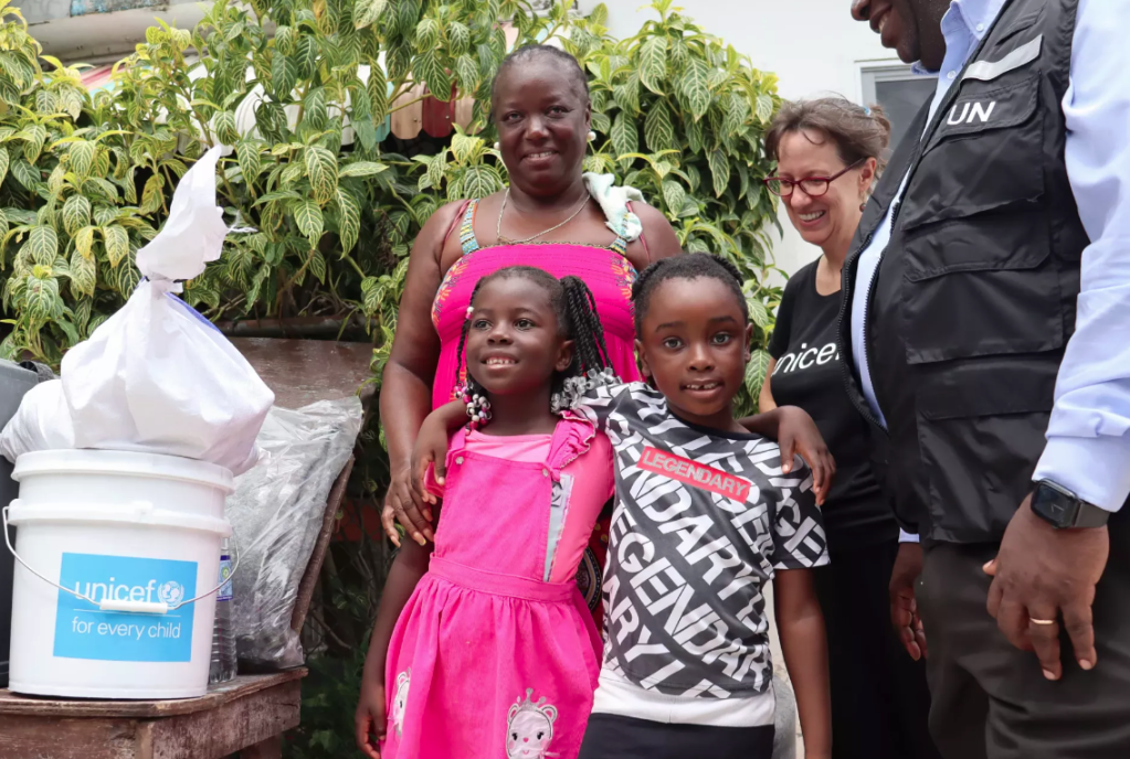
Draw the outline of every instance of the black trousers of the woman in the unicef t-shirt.
M828 637L833 759L935 759L925 665L890 626L887 585L898 554L889 540L833 551L815 571Z

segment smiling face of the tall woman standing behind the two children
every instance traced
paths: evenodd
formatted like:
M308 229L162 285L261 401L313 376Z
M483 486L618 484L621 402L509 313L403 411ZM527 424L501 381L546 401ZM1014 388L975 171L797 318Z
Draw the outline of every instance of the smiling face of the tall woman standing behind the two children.
M592 106L566 62L540 55L504 68L492 109L511 183L546 197L577 180Z

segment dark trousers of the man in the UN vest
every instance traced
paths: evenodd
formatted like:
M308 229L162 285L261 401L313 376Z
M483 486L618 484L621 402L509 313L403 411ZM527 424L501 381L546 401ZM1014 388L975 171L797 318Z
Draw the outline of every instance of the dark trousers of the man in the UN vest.
M930 730L946 759L1130 757L1130 512L1110 522L1111 556L1094 603L1098 662L1085 672L1070 641L1063 677L1012 647L989 616L982 565L998 546L932 544L918 592L930 646Z

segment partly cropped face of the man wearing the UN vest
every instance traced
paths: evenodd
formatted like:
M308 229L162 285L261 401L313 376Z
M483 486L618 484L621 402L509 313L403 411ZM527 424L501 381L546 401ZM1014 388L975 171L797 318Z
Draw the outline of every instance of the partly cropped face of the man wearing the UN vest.
M946 51L940 25L948 8L949 0L853 0L851 11L855 20L868 21L883 46L897 52L903 62L922 61L933 71Z

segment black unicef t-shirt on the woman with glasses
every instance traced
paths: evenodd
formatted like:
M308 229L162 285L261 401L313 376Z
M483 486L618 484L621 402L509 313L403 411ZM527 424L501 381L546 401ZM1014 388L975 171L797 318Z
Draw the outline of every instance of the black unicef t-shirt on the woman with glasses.
M828 547L860 548L898 536L894 513L871 474L871 432L844 390L836 351L840 293L816 291L815 261L797 272L777 309L770 354L777 360L770 383L779 406L803 408L836 459L836 476L824 503Z

